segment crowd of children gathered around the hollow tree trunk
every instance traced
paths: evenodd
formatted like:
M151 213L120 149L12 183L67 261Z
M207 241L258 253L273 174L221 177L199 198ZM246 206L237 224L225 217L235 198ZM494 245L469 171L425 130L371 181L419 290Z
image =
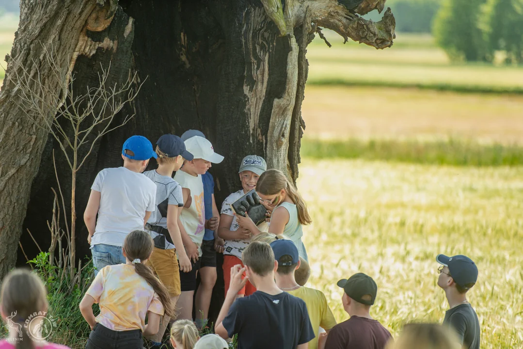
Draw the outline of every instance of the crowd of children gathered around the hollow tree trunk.
M144 172L151 157L157 168ZM224 340L234 335L238 348L392 345L390 332L370 317L377 295L371 277L358 273L338 282L350 315L340 324L323 292L304 286L310 268L302 226L311 218L292 182L281 171L267 170L262 157L244 157L238 170L242 188L224 200L220 213L208 170L223 156L202 132L165 134L155 150L145 137L133 136L123 144L122 159L122 167L97 174L84 212L95 267L95 279L79 305L92 329L86 348L141 349L144 338L161 347L169 323L172 346L183 349L228 348ZM267 222L261 224L232 209L253 189L267 210ZM217 253L224 254L226 296L214 325L216 334L200 339L198 330L207 326L217 280ZM438 285L446 290L453 310L445 322L458 332L460 326L464 329L462 344L479 347L477 316L464 298L476 281L477 268L464 256L440 255L437 260L444 265ZM27 290L32 294L6 306L15 279L21 277L34 284L34 290ZM23 309L20 302L30 303L30 310L46 311L42 297L41 282L17 271L3 283L2 317ZM96 317L94 303L100 308Z

